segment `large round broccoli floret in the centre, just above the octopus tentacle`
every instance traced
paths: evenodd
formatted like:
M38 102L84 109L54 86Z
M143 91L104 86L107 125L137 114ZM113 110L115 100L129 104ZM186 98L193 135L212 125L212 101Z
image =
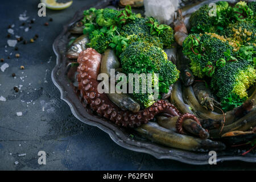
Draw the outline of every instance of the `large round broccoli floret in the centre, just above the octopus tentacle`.
M131 43L120 55L123 73L154 73L159 74L159 92L168 92L171 84L179 78L179 71L176 66L168 60L166 53L163 49L154 46L154 44L147 42L134 42ZM152 96L146 94L135 94L135 97L141 98L140 101L145 107L152 104ZM150 98L150 100L144 98Z

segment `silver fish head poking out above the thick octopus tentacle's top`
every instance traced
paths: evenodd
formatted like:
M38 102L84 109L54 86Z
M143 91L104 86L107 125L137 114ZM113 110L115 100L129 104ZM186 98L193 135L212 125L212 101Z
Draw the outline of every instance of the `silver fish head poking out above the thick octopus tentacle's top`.
M79 53L86 49L86 44L89 42L87 35L81 35L69 47L66 56L69 59L77 59Z

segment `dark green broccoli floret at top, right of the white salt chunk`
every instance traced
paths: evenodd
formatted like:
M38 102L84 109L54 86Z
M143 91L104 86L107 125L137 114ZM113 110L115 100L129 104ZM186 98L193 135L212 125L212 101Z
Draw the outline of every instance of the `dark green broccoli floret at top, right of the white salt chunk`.
M232 8L228 2L219 1L216 3L216 16L209 16L212 7L201 6L199 10L192 13L189 23L191 31L196 33L221 32L227 26L227 22L232 18Z

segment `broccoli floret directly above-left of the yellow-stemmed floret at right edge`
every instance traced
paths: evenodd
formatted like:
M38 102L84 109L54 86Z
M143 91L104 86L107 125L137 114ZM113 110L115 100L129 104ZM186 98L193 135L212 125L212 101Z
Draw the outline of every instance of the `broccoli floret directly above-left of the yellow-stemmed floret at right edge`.
M190 34L183 42L183 53L191 60L191 70L195 76L212 76L216 63L226 59L224 52L234 56L233 47L223 36L217 34ZM229 59L229 57L227 57Z

